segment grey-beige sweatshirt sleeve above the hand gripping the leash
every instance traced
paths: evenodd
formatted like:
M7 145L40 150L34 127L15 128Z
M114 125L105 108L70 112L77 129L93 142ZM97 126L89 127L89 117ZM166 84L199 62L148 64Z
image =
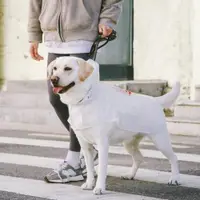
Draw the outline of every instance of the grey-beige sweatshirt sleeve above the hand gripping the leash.
M123 0L103 0L99 23L113 28L121 14L122 3Z

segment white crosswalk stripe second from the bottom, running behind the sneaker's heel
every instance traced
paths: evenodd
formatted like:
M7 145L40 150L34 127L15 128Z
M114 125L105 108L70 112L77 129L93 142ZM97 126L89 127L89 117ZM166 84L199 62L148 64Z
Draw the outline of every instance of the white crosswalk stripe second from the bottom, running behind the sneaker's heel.
M0 158L2 163L28 165L43 168L56 168L59 165L59 163L62 162L61 159L56 158L44 158L37 156L6 153L0 153ZM108 165L108 175L110 176L125 176L127 175L127 172L129 172L129 170L129 167ZM136 174L136 179L166 184L170 175L171 173L169 172L139 169ZM181 174L181 183L181 186L200 189L200 178L198 176Z

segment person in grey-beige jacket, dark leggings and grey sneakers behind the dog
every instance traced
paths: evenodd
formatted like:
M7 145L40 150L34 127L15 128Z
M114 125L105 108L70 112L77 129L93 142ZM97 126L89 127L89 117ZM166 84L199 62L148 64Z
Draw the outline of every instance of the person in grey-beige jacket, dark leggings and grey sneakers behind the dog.
M91 46L98 35L107 37L117 24L123 0L29 0L28 37L30 55L43 60L39 44L47 47L47 65L61 56L89 59ZM45 181L63 183L83 180L84 158L80 144L68 123L68 106L54 94L48 81L49 100L57 116L70 133L70 145L64 162L45 176ZM98 157L94 149L94 160Z

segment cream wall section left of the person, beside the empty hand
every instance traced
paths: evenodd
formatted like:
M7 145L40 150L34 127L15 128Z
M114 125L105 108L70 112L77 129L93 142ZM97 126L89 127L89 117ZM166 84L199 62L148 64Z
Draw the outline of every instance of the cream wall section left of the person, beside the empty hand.
M4 0L5 7L5 72L9 80L44 79L46 61L33 61L28 54L27 0ZM46 56L44 46L40 52Z

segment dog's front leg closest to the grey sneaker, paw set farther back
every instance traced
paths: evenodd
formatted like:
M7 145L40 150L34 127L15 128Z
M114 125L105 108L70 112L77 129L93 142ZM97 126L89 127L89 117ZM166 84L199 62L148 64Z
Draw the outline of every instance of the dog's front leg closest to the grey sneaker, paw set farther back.
M85 158L86 170L87 170L87 179L86 182L81 186L84 190L92 190L95 185L94 178L94 161L93 161L93 146L89 144L84 139L78 138Z

